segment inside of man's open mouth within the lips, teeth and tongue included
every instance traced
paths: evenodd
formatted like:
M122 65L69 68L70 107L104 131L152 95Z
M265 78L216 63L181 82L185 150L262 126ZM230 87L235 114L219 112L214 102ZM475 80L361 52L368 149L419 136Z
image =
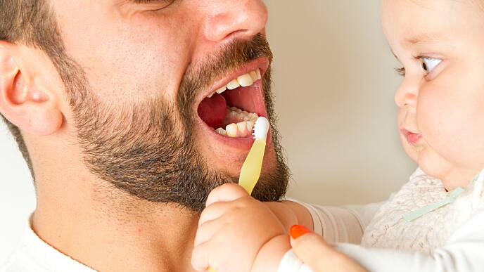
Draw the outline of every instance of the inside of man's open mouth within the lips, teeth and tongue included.
M222 136L249 138L259 116L267 115L259 67L217 87L198 105L198 116Z

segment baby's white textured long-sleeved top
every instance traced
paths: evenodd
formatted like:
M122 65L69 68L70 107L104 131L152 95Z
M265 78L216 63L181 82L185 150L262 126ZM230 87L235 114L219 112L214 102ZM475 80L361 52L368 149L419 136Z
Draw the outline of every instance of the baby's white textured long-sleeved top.
M441 182L420 169L387 202L361 207L301 204L312 215L315 233L370 272L478 272L484 271L483 185L484 171L455 202L410 222L402 216L445 195ZM310 269L288 252L279 271Z

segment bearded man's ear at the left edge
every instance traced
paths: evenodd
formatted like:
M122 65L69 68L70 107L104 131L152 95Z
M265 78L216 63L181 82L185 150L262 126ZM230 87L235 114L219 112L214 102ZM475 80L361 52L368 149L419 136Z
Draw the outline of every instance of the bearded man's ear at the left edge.
M15 44L0 44L0 113L27 133L53 134L63 123L58 97L38 78L36 60L23 53Z

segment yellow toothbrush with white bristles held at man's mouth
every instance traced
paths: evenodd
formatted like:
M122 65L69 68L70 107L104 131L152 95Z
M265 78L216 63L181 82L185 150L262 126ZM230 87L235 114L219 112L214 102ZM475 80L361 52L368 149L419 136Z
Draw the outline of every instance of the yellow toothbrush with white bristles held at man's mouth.
M264 160L267 134L269 133L269 120L266 117L259 117L254 124L255 141L250 148L246 161L243 162L241 174L238 177L238 185L246 189L249 195L252 194L255 184L259 181L262 161ZM208 272L217 272L214 268L208 268Z

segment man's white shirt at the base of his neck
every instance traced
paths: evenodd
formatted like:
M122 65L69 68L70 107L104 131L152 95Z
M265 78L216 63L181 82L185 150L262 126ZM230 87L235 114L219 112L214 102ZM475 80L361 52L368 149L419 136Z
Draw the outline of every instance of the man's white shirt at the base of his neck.
M95 272L48 245L30 226L0 272Z

